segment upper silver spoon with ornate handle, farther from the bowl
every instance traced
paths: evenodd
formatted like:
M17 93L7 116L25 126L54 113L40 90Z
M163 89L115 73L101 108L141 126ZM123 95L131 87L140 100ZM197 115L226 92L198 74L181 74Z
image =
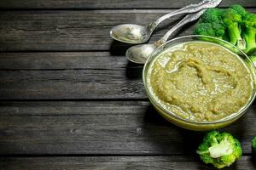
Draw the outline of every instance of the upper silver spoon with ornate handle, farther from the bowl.
M110 31L110 36L119 42L127 42L133 44L147 42L151 37L155 27L158 26L163 20L171 18L177 14L195 13L203 8L214 8L217 7L221 1L222 0L203 0L201 3L190 4L172 13L161 16L158 20L149 23L147 26L140 26L135 24L114 26Z

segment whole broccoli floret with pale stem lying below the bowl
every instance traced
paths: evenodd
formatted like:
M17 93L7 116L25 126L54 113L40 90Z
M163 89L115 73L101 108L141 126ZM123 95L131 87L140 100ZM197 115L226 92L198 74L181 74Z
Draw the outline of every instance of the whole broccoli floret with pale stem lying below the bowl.
M206 134L196 151L201 160L214 167L229 167L241 157L241 144L230 133L213 130Z

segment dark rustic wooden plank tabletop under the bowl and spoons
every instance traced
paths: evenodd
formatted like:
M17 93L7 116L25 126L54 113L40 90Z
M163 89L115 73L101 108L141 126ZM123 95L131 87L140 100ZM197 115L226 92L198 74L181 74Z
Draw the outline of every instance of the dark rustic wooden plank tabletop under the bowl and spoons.
M256 13L255 0L223 1L222 8L240 3ZM213 169L195 154L203 133L154 111L143 65L129 63L128 46L109 37L113 26L145 24L195 2L1 0L0 169ZM180 19L166 21L151 41ZM256 169L255 111L224 128L243 148L231 168Z

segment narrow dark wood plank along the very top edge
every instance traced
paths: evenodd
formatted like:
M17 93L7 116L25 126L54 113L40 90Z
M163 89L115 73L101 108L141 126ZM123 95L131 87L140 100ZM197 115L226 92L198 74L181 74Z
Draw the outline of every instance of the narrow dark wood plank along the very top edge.
M0 8L182 8L190 3L198 3L200 0L1 0ZM256 7L254 0L224 0L220 7L230 7L239 3L244 7Z

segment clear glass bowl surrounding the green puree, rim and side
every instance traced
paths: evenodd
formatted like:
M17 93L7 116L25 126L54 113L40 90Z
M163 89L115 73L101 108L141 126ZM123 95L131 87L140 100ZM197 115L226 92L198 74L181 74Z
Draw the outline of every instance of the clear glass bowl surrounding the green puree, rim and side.
M241 60L247 61L245 62L245 64L247 65L247 68L253 77L253 86L252 86L253 94L250 100L247 102L247 105L243 107L241 111L235 114L231 114L230 116L226 116L223 119L215 122L194 122L188 119L181 118L176 114L174 114L172 111L166 110L165 107L160 105L157 99L154 99L154 94L152 94L152 92L149 90L148 81L147 81L147 74L148 74L148 68L150 63L154 61L155 57L163 53L166 49L171 48L172 46L177 45L179 43L193 42L193 41L212 42L218 45L222 45L224 48L228 48L231 52L238 54L241 57ZM148 57L148 60L146 61L143 67L143 83L144 83L144 87L146 88L146 94L148 95L148 99L150 100L151 104L154 105L154 108L156 109L156 111L158 111L161 116L166 118L166 120L168 120L169 122L172 122L178 127L183 127L189 130L196 130L196 131L206 131L206 130L221 128L221 127L226 127L230 125L232 122L236 122L236 120L238 120L247 111L248 107L253 103L253 99L255 98L254 80L255 80L255 67L253 65L252 60L247 57L247 54L244 54L239 48L236 48L236 46L232 45L230 42L226 42L216 37L207 37L207 36L199 36L199 35L177 37L162 44L159 48L156 48L152 54L150 54L150 56Z

